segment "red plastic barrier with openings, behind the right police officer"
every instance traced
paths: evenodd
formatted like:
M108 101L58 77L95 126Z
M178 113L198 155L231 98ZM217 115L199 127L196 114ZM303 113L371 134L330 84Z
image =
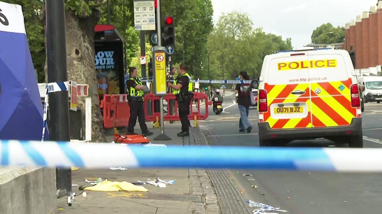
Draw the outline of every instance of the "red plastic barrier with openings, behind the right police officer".
M201 115L200 112L200 107L201 105L201 100L204 99L205 105L206 105L206 113L204 115ZM146 94L144 97L144 108L145 108L145 118L147 121L156 121L156 118L160 118L160 112L154 112L154 101L159 100L159 97L154 96L154 94ZM174 109L178 109L178 102L176 101L176 97L174 94L168 93L167 95L163 96L163 100L167 101L167 110L169 111L169 105L170 101L174 100L175 105ZM193 101L197 101L197 111L193 111ZM151 101L151 109L152 109L152 114L147 115L147 102ZM188 115L189 120L194 120L194 117L196 116L197 120L206 120L209 113L208 113L208 105L212 105L210 101L208 101L208 97L204 93L194 93L194 98L190 103L190 114ZM163 119L165 121L179 121L179 115L178 115L178 110L174 112L174 115L170 115L169 112L163 116Z

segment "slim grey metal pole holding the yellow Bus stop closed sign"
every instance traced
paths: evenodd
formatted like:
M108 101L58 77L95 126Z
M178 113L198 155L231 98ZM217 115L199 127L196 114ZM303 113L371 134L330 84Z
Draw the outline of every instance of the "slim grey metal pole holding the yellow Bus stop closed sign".
M157 0L158 46L162 46L162 34L161 34L160 23L161 23L161 19L160 19L160 0ZM154 81L154 78L153 78L153 81ZM169 140L171 140L171 138L168 137L167 135L165 135L165 121L164 121L164 115L163 115L163 96L159 97L159 111L160 111L160 134L157 137L155 137L154 140L157 140L157 141L169 141Z

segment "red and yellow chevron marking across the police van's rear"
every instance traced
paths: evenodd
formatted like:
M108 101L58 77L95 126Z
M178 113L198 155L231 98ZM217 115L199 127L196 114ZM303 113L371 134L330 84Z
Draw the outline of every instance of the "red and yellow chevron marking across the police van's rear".
M340 85L345 88L341 91ZM291 85L268 85L265 83L264 89L267 91L268 112L262 113L264 120L273 129L287 128L309 128L349 125L357 115L356 109L351 107L350 86L352 80L333 81L324 83L303 83ZM320 93L316 94L316 89ZM301 90L305 94L296 96L291 92ZM310 98L311 97L311 98ZM271 117L270 105L275 103L305 102L308 105L308 115L305 118L274 119Z

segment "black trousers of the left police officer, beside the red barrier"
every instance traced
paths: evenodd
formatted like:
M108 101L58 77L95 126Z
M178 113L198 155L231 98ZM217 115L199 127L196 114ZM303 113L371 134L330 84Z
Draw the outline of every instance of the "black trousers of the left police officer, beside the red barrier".
M142 100L131 99L129 100L130 106L130 118L129 125L127 127L128 132L134 132L134 126L137 122L137 117L139 121L139 126L141 126L142 133L147 133L149 129L147 129L145 118L144 118L144 105Z

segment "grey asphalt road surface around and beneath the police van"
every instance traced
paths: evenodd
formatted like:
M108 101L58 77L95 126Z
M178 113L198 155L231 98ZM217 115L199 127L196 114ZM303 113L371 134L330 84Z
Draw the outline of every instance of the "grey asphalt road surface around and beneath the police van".
M210 145L259 146L257 110L249 111L253 125L251 133L239 133L240 113L234 96L226 96L221 115L212 115L199 122ZM212 109L210 109L212 110ZM367 103L363 112L365 148L382 147L382 104ZM328 140L294 141L288 147L348 147ZM253 154L256 155L256 154ZM354 157L357 158L357 157ZM291 214L322 213L381 213L380 173L328 173L256 170L221 170L231 178L231 188L240 191L242 198L269 204ZM218 183L210 174L216 188ZM228 188L228 187L227 187ZM243 203L225 202L227 197L217 191L223 214L251 213ZM241 202L241 201L240 201ZM269 212L277 213L277 212Z

